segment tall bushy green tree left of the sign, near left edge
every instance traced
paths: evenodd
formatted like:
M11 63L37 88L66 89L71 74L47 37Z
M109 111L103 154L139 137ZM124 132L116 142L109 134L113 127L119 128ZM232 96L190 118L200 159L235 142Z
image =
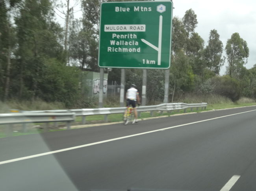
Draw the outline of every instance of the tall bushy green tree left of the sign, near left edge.
M15 18L17 25L17 69L19 98L35 100L39 85L45 78L47 60L56 58L65 63L63 48L59 44L62 29L53 21L50 0L25 0Z

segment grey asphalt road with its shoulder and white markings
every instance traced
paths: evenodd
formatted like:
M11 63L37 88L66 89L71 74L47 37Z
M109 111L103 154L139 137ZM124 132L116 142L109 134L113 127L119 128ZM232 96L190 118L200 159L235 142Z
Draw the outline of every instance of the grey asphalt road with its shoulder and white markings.
M255 116L253 106L0 138L0 190L255 191Z

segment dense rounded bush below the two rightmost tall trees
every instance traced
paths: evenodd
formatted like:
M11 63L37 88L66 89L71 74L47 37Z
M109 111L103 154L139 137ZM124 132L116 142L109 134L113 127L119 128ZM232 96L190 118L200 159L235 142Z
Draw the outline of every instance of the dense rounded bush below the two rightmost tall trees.
M233 102L239 100L241 96L240 84L230 76L215 76L211 79L214 86L214 93L230 98Z

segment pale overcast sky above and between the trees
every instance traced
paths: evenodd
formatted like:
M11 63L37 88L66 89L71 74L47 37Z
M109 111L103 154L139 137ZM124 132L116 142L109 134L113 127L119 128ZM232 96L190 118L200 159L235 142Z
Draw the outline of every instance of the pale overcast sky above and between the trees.
M197 15L198 25L195 31L208 44L210 31L216 29L225 48L228 38L239 33L249 47L247 69L256 64L256 1L254 0L173 0L173 16L182 18L188 9ZM76 9L80 9L79 5ZM75 17L81 17L77 12ZM221 75L226 71L226 63L221 68Z

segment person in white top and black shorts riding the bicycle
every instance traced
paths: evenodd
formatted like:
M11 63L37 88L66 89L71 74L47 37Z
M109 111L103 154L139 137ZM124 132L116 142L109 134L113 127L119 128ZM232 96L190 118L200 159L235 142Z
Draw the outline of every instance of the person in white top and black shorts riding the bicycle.
M135 119L132 123L137 123L138 122L138 113L137 113L137 109L136 109L136 100L137 100L138 104L140 103L140 100L139 100L139 92L136 89L135 84L132 84L130 89L127 90L125 98L126 98L126 106L129 107L130 105L132 105L132 107L134 108ZM125 119L126 112L127 112L127 108L124 112L124 120L126 120Z

